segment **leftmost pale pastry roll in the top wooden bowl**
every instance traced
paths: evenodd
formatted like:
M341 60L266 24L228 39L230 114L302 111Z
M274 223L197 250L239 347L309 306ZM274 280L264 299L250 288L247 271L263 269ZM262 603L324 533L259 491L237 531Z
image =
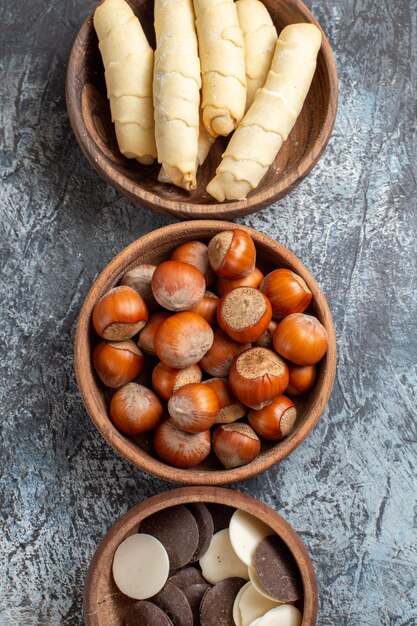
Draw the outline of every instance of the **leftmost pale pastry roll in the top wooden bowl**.
M120 152L150 165L156 157L153 50L125 0L104 0L94 13L94 28Z

